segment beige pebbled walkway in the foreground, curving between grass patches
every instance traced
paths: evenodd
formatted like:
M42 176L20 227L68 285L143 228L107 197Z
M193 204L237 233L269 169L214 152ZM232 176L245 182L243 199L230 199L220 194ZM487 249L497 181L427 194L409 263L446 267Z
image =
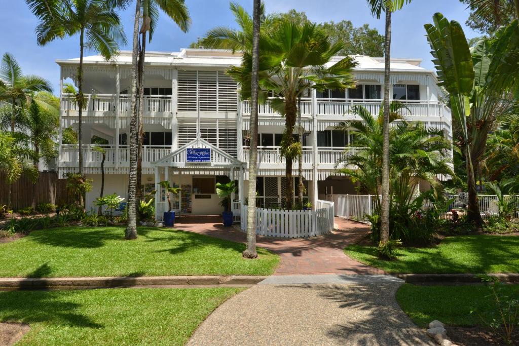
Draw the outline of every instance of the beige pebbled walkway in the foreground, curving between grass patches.
M398 306L399 285L256 285L218 307L187 344L434 345Z

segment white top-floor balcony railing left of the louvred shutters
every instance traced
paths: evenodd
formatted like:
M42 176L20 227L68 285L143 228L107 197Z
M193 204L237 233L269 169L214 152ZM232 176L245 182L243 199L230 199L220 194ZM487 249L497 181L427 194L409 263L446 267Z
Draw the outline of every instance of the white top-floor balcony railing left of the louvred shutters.
M90 112L114 112L116 105L115 95L111 94L85 94L86 105L84 110ZM121 115L128 116L130 114L130 99L128 95L119 95L119 110ZM79 107L73 95L63 95L61 102L61 110L65 112L77 111ZM171 112L171 96L170 95L145 95L144 96L144 112L145 113L165 113Z

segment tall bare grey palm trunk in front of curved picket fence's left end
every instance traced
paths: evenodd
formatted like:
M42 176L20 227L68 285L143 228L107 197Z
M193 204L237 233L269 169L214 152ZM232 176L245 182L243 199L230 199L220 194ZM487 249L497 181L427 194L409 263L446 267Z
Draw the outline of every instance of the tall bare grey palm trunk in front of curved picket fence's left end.
M258 137L258 70L260 69L260 8L261 0L254 0L252 27L252 80L251 80L251 126L249 150L249 203L247 204L247 248L245 258L257 258L256 252L256 169ZM243 201L241 201L243 203Z

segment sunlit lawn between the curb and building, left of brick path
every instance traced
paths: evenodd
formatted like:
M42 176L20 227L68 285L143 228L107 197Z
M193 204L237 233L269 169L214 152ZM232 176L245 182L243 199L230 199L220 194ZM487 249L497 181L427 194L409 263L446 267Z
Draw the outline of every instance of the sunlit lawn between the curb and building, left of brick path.
M0 277L119 275L268 275L279 256L201 234L142 227L124 240L122 227L67 227L34 231L0 244Z

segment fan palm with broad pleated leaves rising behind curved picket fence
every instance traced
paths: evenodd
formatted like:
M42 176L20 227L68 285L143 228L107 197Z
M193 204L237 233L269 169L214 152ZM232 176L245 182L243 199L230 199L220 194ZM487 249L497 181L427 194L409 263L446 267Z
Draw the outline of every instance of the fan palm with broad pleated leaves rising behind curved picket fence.
M265 100L267 92L272 92L275 97L271 105L285 118L281 153L285 157L285 206L288 210L292 209L294 191L292 163L301 152L301 146L293 136L297 100L311 89L344 90L354 87L352 70L357 62L353 58L346 57L333 66L325 66L341 49L342 43L331 44L329 36L311 23L285 22L267 33L260 33L261 98ZM227 72L240 84L242 99L248 99L251 95L251 71L251 52L245 51L241 66L233 66Z

